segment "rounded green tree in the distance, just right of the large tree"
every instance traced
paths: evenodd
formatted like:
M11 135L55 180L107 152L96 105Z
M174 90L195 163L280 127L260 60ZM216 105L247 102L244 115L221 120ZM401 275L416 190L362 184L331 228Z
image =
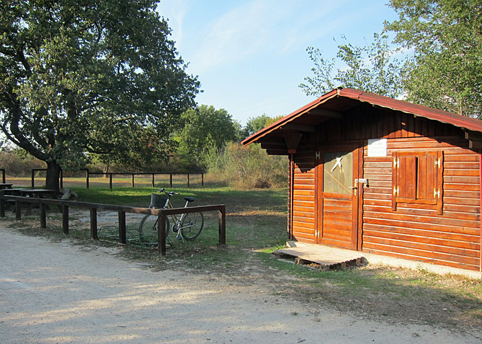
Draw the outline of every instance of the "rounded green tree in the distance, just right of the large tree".
M194 156L200 156L211 148L220 149L237 138L231 115L224 109L216 110L212 105L189 109L182 114L182 120L185 126L180 132L180 147Z

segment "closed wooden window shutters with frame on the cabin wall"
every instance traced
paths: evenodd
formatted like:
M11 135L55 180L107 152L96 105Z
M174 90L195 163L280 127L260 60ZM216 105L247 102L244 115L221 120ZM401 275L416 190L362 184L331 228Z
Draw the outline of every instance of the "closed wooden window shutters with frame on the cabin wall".
M418 180L419 168L421 168L421 159L432 156L433 165L424 165L423 168L433 168L433 183L430 193L433 197L421 198L418 196L419 190L422 189L421 181ZM405 158L405 159L404 159ZM427 160L427 159L426 159ZM400 166L405 163L405 166ZM410 164L410 166L408 166ZM409 172L407 172L409 171ZM401 176L401 174L404 176ZM407 180L406 174L409 174L410 180ZM401 181L401 178L405 178ZM400 191L402 188L402 191ZM423 191L427 194L427 186L423 185ZM401 196L400 196L401 194ZM434 205L437 208L437 214L443 212L443 151L438 152L393 152L392 154L392 210L397 210L397 203L415 203Z

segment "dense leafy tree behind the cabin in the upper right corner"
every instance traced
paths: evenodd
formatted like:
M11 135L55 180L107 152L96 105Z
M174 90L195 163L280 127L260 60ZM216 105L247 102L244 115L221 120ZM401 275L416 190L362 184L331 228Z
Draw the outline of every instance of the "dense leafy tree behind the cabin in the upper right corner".
M404 82L408 100L481 117L481 1L392 0L390 6L399 20L386 28L413 50Z

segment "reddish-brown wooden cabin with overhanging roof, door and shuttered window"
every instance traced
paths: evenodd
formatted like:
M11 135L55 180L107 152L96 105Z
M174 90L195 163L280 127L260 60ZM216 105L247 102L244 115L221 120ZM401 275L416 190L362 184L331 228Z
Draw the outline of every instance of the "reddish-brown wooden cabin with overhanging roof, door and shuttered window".
M289 156L290 240L481 271L482 121L339 88L249 143Z

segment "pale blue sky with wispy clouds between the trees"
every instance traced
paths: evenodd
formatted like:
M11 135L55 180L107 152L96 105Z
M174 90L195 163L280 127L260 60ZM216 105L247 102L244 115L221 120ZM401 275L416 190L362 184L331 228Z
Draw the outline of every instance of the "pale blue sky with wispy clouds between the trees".
M342 34L371 43L384 21L397 19L388 0L161 0L187 72L198 76L199 105L250 118L290 114L313 101L299 87L312 76L306 48L335 57Z

